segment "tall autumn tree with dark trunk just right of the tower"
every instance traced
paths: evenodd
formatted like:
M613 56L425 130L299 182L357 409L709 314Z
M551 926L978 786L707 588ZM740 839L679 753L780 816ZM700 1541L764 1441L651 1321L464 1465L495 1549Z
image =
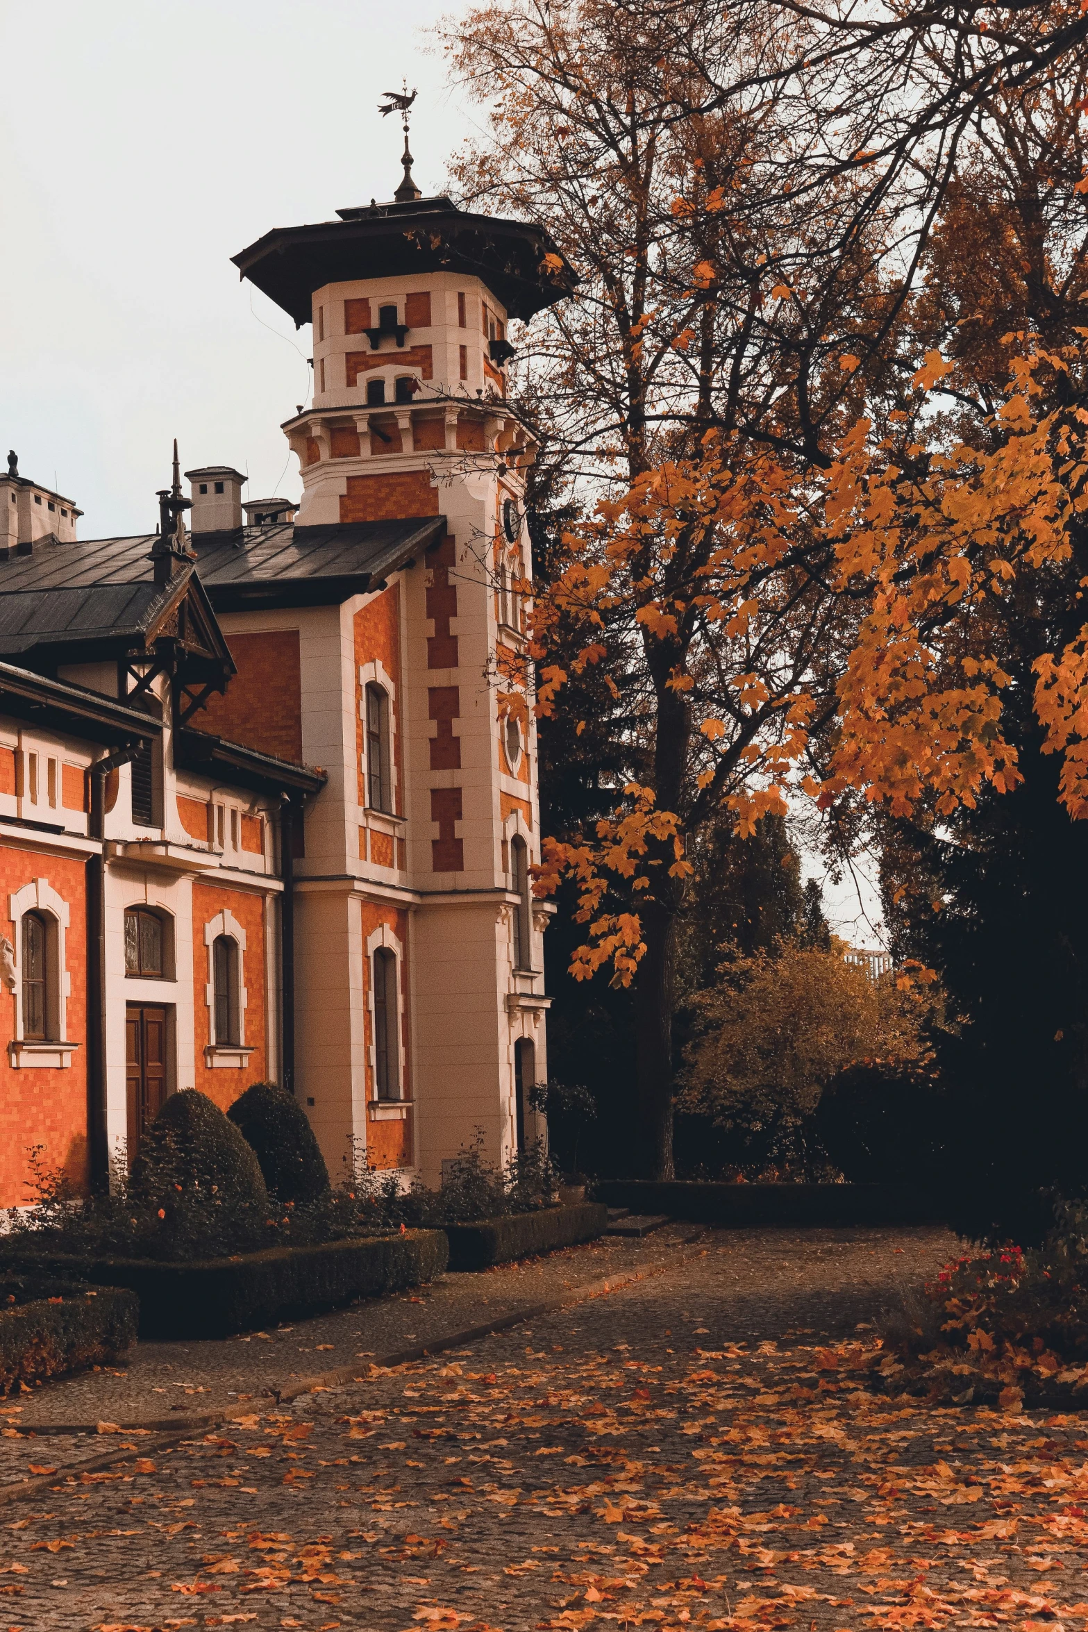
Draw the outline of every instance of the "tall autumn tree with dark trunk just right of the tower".
M447 39L491 119L457 168L462 194L540 220L582 274L525 351L524 411L546 421L584 511L538 607L538 707L563 710L564 685L599 671L617 770L638 772L615 777L595 823L555 836L542 888L577 880L576 974L636 981L643 1170L672 1162L688 844L723 809L752 831L791 778L825 800L868 778L896 800L889 765L918 764L928 721L879 752L869 728L866 687L894 692L905 646L886 661L873 605L894 552L871 561L874 524L855 514L869 481L882 503L900 493L860 421L900 354L982 93L1046 77L1083 33L1060 7L985 29L951 7L517 0ZM933 377L900 370L900 385ZM915 408L889 411L910 421L899 444L923 480ZM992 721L941 708L943 769L971 788L953 738L974 752Z

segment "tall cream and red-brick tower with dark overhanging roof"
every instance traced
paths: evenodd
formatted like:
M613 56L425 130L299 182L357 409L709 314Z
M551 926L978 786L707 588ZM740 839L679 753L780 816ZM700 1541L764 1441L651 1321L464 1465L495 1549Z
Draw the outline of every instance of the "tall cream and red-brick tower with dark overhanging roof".
M370 563L334 620L310 620L300 687L303 757L329 782L295 862L299 1092L326 1159L351 1138L434 1180L476 1129L509 1159L545 1074L535 450L507 403L507 323L574 277L538 228L419 197L409 165L391 202L277 228L235 264L313 325L313 400L284 424L294 542ZM282 633L238 623L258 627Z

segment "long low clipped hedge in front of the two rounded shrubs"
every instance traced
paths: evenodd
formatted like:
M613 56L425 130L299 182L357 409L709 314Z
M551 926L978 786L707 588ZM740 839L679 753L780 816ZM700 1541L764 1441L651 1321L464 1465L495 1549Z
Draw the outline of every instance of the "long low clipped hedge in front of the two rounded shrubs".
M23 1271L129 1288L140 1301L142 1338L230 1337L284 1315L308 1315L352 1297L418 1286L440 1275L449 1257L442 1231L269 1247L206 1263L41 1255L28 1247L16 1257L8 1244L0 1250Z

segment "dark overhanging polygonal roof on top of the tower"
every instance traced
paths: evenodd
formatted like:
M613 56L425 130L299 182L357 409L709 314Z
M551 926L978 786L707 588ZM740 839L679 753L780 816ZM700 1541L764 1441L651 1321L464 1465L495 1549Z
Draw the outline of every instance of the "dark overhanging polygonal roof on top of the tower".
M339 220L274 227L232 256L243 277L300 328L325 284L419 273L480 277L514 318L564 300L577 274L540 227L473 215L449 197L336 211Z

